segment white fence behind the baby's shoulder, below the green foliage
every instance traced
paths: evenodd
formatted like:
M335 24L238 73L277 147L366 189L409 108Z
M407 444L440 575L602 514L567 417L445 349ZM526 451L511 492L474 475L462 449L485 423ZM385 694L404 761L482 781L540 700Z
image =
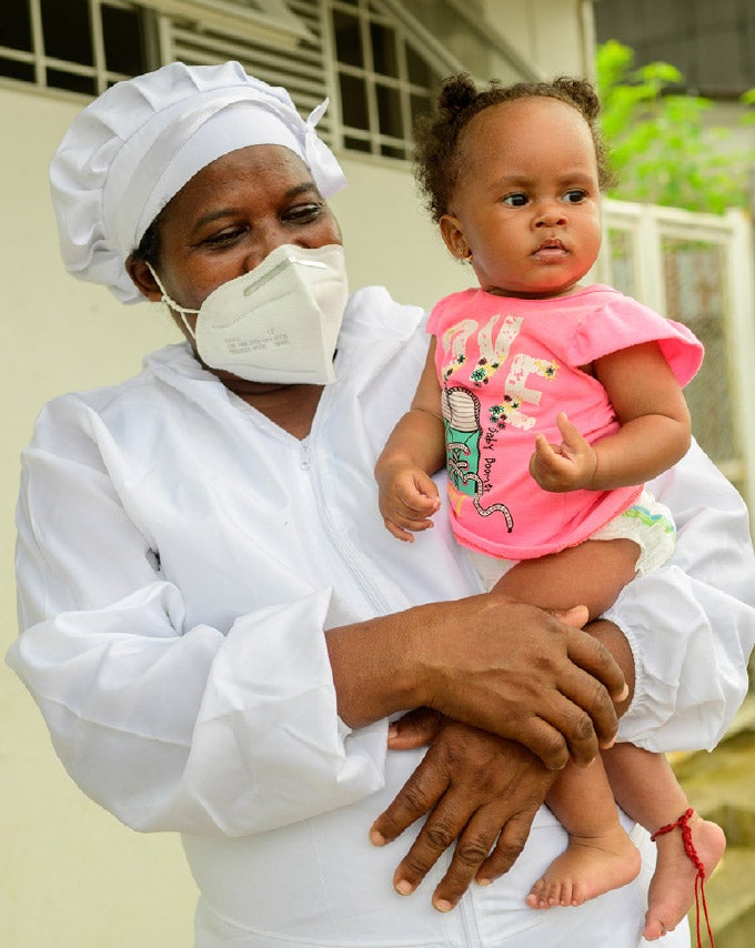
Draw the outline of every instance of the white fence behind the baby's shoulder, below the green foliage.
M755 518L755 250L743 211L606 201L593 274L688 325L705 362L685 390L695 437ZM641 383L640 383L641 384Z

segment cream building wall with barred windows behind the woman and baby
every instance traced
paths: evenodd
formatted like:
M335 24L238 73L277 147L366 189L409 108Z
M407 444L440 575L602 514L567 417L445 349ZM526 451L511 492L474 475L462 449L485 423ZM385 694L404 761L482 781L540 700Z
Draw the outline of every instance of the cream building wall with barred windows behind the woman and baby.
M61 392L133 374L144 352L178 339L162 307L123 307L63 272L47 168L91 95L172 59L240 59L288 85L302 111L329 95L323 128L351 181L333 201L350 281L429 304L467 275L419 206L406 160L412 115L459 69L503 80L588 74L592 50L585 0L3 0L3 653L17 634L18 455L37 413ZM88 801L22 686L4 666L0 676L0 944L191 944L194 890L178 839L137 837Z

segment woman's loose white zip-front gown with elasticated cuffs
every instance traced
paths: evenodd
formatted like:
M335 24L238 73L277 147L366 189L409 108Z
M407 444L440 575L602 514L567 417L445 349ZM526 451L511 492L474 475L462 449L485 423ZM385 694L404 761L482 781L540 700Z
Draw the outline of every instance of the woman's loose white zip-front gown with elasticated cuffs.
M372 470L424 362L421 323L382 289L354 294L304 441L175 345L51 402L24 452L7 660L84 793L183 834L201 948L638 944L642 881L578 909L524 905L563 848L545 808L512 871L447 915L430 905L447 857L402 898L411 834L368 840L420 752L386 754L385 722L343 725L322 629L479 589L442 513L414 544L378 513ZM695 446L653 490L680 548L612 613L637 666L621 737L712 747L755 638L746 512Z

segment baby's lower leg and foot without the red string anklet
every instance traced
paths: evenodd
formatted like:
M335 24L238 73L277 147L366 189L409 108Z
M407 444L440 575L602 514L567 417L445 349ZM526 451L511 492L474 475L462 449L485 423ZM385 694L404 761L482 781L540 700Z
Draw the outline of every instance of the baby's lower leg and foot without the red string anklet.
M568 764L546 803L568 833L568 846L532 887L531 908L582 905L640 873L640 853L618 821L600 757L584 769Z

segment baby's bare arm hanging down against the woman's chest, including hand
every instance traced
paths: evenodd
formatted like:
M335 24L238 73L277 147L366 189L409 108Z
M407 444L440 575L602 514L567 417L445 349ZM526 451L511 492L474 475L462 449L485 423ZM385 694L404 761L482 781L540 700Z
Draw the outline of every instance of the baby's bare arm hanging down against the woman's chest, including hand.
M440 507L431 474L445 463L441 386L435 372L435 340L410 410L393 428L378 463L379 506L390 533L413 542L410 531L427 530Z

